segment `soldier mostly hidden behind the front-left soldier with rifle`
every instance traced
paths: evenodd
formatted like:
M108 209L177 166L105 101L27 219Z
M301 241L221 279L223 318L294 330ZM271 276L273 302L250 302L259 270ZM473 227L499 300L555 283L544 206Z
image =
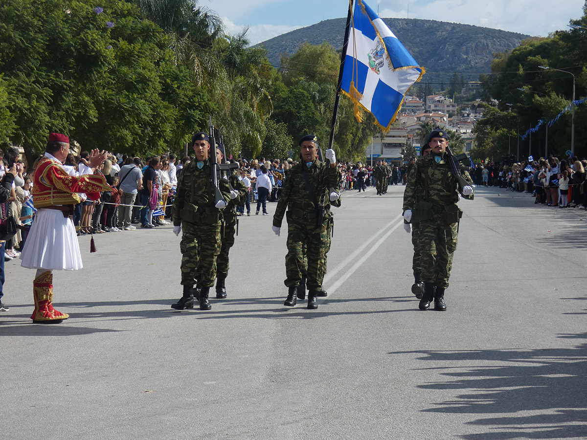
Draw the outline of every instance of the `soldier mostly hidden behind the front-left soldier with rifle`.
M224 145L218 145L216 148L218 163L225 163ZM216 297L224 299L227 296L225 280L228 276L228 252L234 245L234 235L237 232L237 207L245 202L245 197L248 197L249 192L245 184L238 179L238 170L232 170L228 175L228 182L230 183L230 202L228 206L222 210L222 245L220 247L220 254L216 259Z

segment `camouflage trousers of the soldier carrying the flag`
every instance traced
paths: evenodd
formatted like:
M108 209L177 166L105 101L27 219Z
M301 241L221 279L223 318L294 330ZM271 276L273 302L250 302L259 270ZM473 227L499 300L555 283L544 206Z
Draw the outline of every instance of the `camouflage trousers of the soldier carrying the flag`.
M312 223L312 222L311 222ZM328 226L326 222L317 228L307 222L288 221L288 253L285 256L285 285L298 286L302 273L306 273L306 286L320 290L326 273L328 252Z

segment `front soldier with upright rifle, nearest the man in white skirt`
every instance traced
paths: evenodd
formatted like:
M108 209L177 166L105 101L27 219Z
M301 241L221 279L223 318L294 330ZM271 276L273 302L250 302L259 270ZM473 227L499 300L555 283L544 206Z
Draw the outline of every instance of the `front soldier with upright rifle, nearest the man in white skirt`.
M216 259L220 253L221 209L227 206L231 195L228 182L220 180L217 185L222 199L215 202L208 135L203 131L195 134L192 146L195 160L181 170L172 208L173 232L179 235L183 228L180 243L183 296L171 307L193 309L193 287L198 275L202 286L198 293L200 309L210 310L208 294L210 287L214 286Z

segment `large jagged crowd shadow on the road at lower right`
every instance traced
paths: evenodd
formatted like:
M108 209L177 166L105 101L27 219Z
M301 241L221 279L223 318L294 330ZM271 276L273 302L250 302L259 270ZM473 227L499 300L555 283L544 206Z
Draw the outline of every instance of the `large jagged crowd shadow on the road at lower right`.
M587 339L587 333L563 334ZM484 361L498 366L430 368L446 381L419 385L424 390L462 390L456 400L436 402L424 412L478 414L468 422L484 427L467 440L584 438L587 433L587 343L537 350L410 351L422 361ZM534 413L523 415L521 412ZM490 417L500 414L500 417ZM502 417L502 414L508 414Z

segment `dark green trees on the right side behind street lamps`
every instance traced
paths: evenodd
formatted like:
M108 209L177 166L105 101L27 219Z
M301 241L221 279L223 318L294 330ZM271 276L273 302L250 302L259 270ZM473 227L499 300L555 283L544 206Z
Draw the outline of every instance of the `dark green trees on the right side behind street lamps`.
M581 19L571 20L572 24L587 26L587 11ZM573 92L573 76L576 78L576 97L585 97L587 91L587 32L584 29L558 31L548 38L532 38L522 41L518 48L511 52L496 53L491 65L492 74L484 76L483 99L497 99L499 110L507 110L511 106L511 117L508 127L501 124L501 118L490 115L490 121L484 123L493 133L495 153L507 151L512 130L525 133L530 127L538 124L538 120L549 121L569 105ZM566 70L544 70L539 66ZM571 75L572 74L572 75ZM522 89L522 90L519 90ZM587 109L582 104L576 108L575 116L575 154L580 157L587 155L587 146L578 140L587 135ZM485 116L488 116L487 114ZM508 133L508 134L506 134ZM543 126L532 134L532 153L544 154L546 130ZM477 143L479 143L479 139ZM521 141L525 151L529 148L529 139ZM557 123L548 129L549 153L564 154L571 147L571 112L562 116Z

